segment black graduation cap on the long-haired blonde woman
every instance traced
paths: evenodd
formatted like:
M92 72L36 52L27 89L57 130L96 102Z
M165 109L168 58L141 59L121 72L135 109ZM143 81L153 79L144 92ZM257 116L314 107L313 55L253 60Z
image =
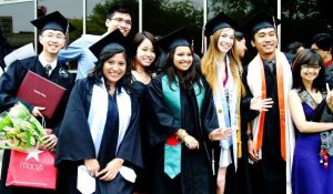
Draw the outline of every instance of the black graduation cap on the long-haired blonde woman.
M204 35L210 37L220 29L224 28L238 28L238 23L229 18L224 12L220 12L214 18L212 18L209 22L206 22L204 27Z

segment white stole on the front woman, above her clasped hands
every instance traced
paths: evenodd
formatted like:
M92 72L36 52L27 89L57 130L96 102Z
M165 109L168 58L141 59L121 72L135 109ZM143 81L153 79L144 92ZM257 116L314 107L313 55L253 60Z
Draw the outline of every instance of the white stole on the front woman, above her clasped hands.
M118 92L118 90L115 90ZM91 137L94 144L95 156L98 157L100 145L105 127L109 96L108 90L104 85L104 80L102 83L94 84L92 89L91 104L88 116L88 124L90 126ZM123 136L128 130L131 120L131 98L122 88L121 92L117 93L117 106L119 114L119 134L117 142L117 151L121 144ZM115 152L117 153L117 152Z

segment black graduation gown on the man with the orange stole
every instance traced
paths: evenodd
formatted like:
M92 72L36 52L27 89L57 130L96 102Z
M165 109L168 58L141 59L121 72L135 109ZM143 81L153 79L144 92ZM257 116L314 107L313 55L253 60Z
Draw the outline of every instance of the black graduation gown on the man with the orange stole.
M273 71L264 63L266 98L272 98L273 106L265 112L262 142L262 160L249 165L252 193L285 193L285 161L281 156L280 112L276 84L276 68ZM246 76L246 75L245 75ZM251 93L251 91L246 91ZM248 118L249 120L249 118Z

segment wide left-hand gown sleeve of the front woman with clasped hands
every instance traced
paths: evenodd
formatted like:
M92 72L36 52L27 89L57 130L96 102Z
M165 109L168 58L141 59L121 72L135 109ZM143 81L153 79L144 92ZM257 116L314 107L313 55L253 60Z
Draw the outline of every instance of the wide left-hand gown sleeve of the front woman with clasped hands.
M88 124L87 79L78 80L72 89L59 130L56 165L62 161L95 159L93 141Z

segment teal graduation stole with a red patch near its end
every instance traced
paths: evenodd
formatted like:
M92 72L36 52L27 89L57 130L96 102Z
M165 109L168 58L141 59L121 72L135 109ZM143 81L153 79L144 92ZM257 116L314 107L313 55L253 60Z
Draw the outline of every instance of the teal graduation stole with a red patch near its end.
M179 80L169 85L167 75L162 78L162 92L163 101L174 118L174 123L181 127L181 94L179 88ZM199 108L199 115L201 115L201 106L204 99L204 89L201 90L198 83L194 84L194 93ZM178 141L175 135L170 136L164 144L164 173L174 178L181 172L181 142Z

